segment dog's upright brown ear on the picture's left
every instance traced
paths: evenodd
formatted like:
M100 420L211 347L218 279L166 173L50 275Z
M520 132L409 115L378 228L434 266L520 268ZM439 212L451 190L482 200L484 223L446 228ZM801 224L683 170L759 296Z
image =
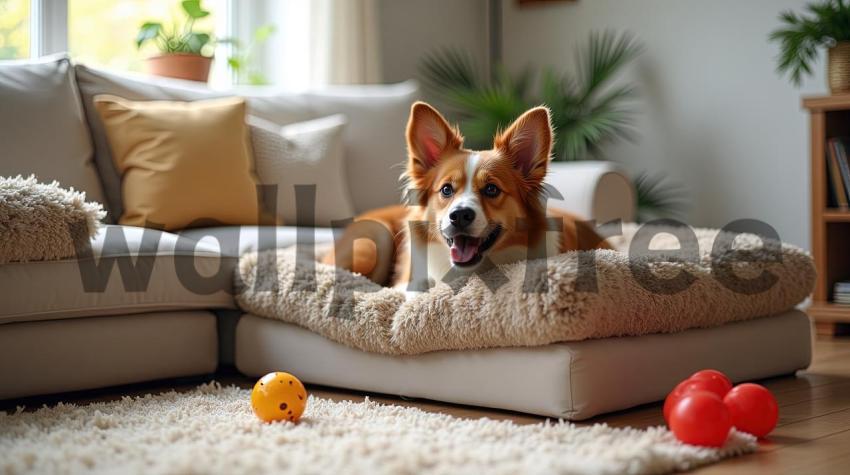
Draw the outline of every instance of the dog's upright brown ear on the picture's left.
M413 104L407 121L408 173L424 175L443 154L462 146L463 137L436 109L424 102Z

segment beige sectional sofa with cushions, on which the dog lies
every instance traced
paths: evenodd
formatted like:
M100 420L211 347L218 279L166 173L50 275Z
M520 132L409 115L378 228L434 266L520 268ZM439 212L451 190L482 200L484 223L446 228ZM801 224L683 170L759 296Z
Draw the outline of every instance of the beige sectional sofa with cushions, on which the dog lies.
M92 108L93 97L104 93L184 101L240 95L250 114L281 125L344 114L346 180L357 213L399 202L404 127L420 95L414 82L214 91L75 65L61 55L0 62L0 176L57 180L109 212L89 256L0 265L0 399L208 375L235 365L249 376L287 370L308 383L581 419L657 400L694 368L714 366L743 380L809 363L809 323L799 311L769 324L623 338L614 352L589 341L404 358L366 354L294 325L243 315L230 282L239 256L290 246L299 228L165 232L117 224L121 180L104 160L108 142ZM554 164L547 182L561 195L553 206L599 222L634 219L634 190L613 163ZM317 243L333 239L330 228L304 229ZM183 285L177 268L187 263L218 279L212 290ZM725 351L713 351L718 347ZM671 361L671 353L682 357ZM761 361L747 360L754 354ZM650 383L642 386L636 374L649 375Z

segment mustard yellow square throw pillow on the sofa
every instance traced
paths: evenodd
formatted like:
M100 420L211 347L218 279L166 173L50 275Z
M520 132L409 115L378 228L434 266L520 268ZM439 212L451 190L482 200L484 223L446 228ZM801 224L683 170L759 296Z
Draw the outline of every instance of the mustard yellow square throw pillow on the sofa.
M177 230L258 223L244 100L99 95L94 104L121 173L121 224Z

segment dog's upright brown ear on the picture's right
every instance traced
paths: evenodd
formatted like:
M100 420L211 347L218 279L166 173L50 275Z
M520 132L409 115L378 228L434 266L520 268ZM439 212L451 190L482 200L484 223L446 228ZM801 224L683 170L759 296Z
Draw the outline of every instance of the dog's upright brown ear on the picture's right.
M510 159L526 180L541 183L552 154L549 109L535 107L526 111L507 130L496 136L493 148Z

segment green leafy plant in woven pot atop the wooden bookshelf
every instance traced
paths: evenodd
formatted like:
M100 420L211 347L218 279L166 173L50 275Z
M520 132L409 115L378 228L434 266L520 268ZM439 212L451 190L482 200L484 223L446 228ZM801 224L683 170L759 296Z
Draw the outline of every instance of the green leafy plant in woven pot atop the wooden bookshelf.
M779 73L799 86L812 74L818 50L827 49L827 79L833 94L850 93L850 1L825 0L806 5L811 16L793 11L780 15L783 27L770 35L781 46Z

